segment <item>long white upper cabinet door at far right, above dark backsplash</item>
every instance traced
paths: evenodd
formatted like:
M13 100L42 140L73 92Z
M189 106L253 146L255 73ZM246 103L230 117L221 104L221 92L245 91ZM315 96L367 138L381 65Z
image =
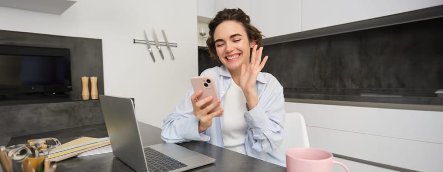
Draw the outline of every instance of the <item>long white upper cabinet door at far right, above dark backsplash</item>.
M303 0L302 31L442 5L443 0Z

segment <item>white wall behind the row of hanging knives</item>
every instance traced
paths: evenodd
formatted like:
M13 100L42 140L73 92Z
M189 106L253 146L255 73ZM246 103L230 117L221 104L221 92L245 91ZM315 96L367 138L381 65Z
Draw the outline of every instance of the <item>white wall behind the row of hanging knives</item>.
M102 39L105 93L134 97L138 119L161 126L198 75L196 0L79 0L62 15L0 7L0 29ZM143 29L160 41L164 29L172 48L165 60L154 48L153 63ZM99 78L103 79L103 78ZM76 84L76 83L73 83ZM81 83L77 83L81 84Z

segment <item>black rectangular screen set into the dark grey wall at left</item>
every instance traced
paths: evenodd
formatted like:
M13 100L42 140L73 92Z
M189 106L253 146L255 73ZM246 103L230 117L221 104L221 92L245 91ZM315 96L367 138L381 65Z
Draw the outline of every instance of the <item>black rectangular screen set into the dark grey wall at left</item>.
M0 95L71 90L69 49L0 45Z

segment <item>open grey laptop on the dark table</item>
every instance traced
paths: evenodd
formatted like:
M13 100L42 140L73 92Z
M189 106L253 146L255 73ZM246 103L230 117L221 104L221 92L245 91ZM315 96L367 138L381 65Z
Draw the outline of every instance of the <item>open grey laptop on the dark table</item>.
M142 145L131 98L99 95L113 154L137 172L182 172L214 158L174 143ZM150 138L160 136L150 136ZM165 162L155 162L162 160Z

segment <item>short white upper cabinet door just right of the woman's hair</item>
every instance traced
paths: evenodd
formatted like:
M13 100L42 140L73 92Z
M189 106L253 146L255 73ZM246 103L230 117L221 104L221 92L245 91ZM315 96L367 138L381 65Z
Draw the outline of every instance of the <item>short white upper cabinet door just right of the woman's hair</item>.
M266 37L302 30L302 0L254 0L251 23Z

